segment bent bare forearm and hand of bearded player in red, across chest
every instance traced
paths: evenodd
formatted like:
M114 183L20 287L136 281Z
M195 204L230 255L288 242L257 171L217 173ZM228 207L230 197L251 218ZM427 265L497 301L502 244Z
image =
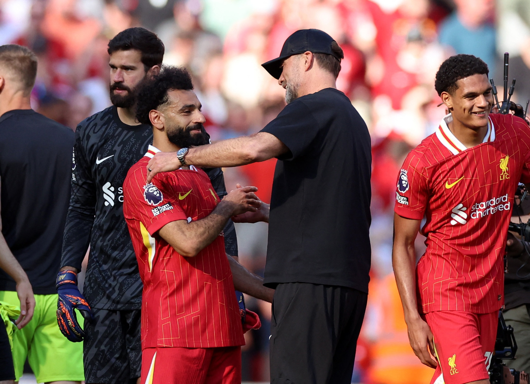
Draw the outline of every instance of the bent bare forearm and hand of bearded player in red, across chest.
M163 226L158 233L182 256L194 257L211 244L221 233L231 216L255 211L261 201L254 194L255 186L245 186L228 193L204 219L188 222L175 220Z

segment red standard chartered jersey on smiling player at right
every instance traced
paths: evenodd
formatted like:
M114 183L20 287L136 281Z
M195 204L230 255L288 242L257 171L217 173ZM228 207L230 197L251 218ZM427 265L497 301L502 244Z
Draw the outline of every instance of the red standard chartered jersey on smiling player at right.
M488 313L504 302L502 259L517 185L530 182L530 128L490 114L482 144L466 148L450 119L405 159L394 211L426 218L427 251L416 267L423 312Z

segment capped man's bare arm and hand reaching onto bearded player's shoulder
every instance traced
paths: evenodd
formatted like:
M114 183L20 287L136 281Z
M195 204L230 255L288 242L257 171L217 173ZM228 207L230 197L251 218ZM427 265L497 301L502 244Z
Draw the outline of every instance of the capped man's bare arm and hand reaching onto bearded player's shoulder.
M252 136L237 137L189 148L184 160L188 165L199 167L236 167L255 162L263 162L287 153L289 149L276 136L268 132L258 132ZM182 166L176 152L158 152L149 160L147 182L159 172L170 172Z

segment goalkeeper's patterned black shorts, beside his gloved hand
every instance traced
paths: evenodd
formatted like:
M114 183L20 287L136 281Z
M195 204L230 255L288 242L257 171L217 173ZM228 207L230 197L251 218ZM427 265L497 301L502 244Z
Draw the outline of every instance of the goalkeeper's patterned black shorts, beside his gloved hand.
M84 326L86 384L136 383L142 368L140 311L92 308L92 312L94 320Z

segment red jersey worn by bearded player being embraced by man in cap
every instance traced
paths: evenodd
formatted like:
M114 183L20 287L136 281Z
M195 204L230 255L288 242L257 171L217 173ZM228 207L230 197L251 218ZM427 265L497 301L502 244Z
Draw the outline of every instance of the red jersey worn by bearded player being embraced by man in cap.
M149 146L123 182L123 213L144 283L142 347L244 345L223 235L195 257L181 256L158 235L171 221L205 218L219 198L206 173L193 166L159 173L146 185L156 152Z

